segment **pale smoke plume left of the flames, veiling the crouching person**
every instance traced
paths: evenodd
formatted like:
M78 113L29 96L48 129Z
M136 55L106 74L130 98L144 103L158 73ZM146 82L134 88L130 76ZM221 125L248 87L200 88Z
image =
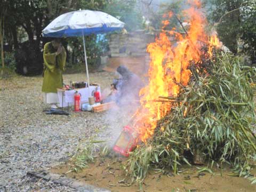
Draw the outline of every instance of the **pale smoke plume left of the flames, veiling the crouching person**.
M106 112L108 121L108 145L113 147L124 126L130 125L132 116L140 106L139 91L144 86L137 74L131 72L126 66L117 68L119 80L116 85L117 93L112 97L116 106Z

